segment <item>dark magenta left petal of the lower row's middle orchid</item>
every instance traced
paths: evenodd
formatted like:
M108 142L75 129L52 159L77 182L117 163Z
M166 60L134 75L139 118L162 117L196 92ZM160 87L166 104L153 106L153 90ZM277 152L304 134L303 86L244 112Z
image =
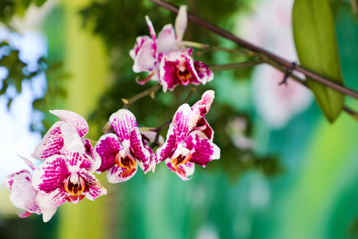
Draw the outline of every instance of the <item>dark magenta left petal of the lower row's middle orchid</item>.
M96 172L102 173L116 164L116 155L123 147L118 142L117 135L109 133L101 136L95 145L95 149L102 160L101 167Z

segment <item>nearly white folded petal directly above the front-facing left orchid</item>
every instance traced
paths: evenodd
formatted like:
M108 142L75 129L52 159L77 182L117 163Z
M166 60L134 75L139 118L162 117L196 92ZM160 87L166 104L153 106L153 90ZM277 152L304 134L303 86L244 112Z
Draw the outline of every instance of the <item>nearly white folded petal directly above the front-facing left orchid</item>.
M85 153L82 138L72 124L64 123L61 125L63 143L71 152Z

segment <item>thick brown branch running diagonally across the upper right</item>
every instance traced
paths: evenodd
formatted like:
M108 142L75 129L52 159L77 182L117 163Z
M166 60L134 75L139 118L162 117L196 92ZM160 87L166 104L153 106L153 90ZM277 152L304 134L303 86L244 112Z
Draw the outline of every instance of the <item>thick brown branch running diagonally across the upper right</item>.
M149 0L159 6L162 6L163 8L166 8L168 9L169 11L172 11L173 13L177 14L178 13L178 9L179 7L174 5L174 4L171 4L171 3L168 3L166 1L163 1L163 0ZM280 64L281 66L283 67L286 67L286 68L292 68L294 67L294 64L289 62L289 61L286 61L285 59L279 57L279 56L276 56L275 54L272 54L268 51L266 51L265 49L262 49L262 48L259 48L259 47L256 47L238 37L236 37L235 35L233 35L231 32L228 32L227 30L224 30L220 27L218 27L217 25L214 25L212 23L209 23L208 21L205 21L193 14L190 14L188 13L188 19L190 21L192 21L193 23L196 23L204 28L207 28L208 30L218 34L218 35L221 35L222 37L224 38L227 38L229 40L232 40L233 42L237 43L238 45L242 46L242 47L245 47L247 49L250 49L251 51L253 52L258 52L258 53L261 53L263 55L265 55L267 58L271 59L272 61L275 61L276 63ZM354 91L352 89L349 89L347 87L344 87L342 85L339 85L338 83L335 83L333 81L330 81L322 76L319 76L317 75L316 73L314 72L311 72L309 70L307 70L306 68L304 67L301 67L301 66L296 66L295 67L295 70L296 71L299 71L301 73L303 73L304 75L306 75L306 77L308 78L311 78L312 80L316 81L316 82L319 82L325 86L328 86L334 90L337 90L345 95L349 95L355 99L358 99L358 92L357 91Z

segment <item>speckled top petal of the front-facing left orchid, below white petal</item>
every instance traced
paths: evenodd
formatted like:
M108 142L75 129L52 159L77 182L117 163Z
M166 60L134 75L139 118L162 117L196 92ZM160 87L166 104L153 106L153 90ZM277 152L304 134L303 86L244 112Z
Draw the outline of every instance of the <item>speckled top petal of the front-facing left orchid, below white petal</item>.
M82 168L88 170L93 164L86 154L70 152L66 146L63 146L62 154L66 157L66 166L70 173L78 173Z

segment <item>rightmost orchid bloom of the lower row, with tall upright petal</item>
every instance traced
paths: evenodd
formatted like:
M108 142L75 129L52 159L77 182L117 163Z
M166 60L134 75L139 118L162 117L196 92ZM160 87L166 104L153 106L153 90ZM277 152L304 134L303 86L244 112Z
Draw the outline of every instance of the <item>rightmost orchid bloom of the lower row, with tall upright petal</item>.
M161 145L156 155L158 161L165 161L166 166L175 172L182 180L189 180L194 173L194 164L203 167L214 159L220 158L219 147L212 142L214 133L210 126L202 124L204 115L210 109L213 91L206 91L202 100L193 105L183 104L178 108L166 135L166 141ZM206 122L206 120L205 120ZM211 129L209 138L205 132Z

